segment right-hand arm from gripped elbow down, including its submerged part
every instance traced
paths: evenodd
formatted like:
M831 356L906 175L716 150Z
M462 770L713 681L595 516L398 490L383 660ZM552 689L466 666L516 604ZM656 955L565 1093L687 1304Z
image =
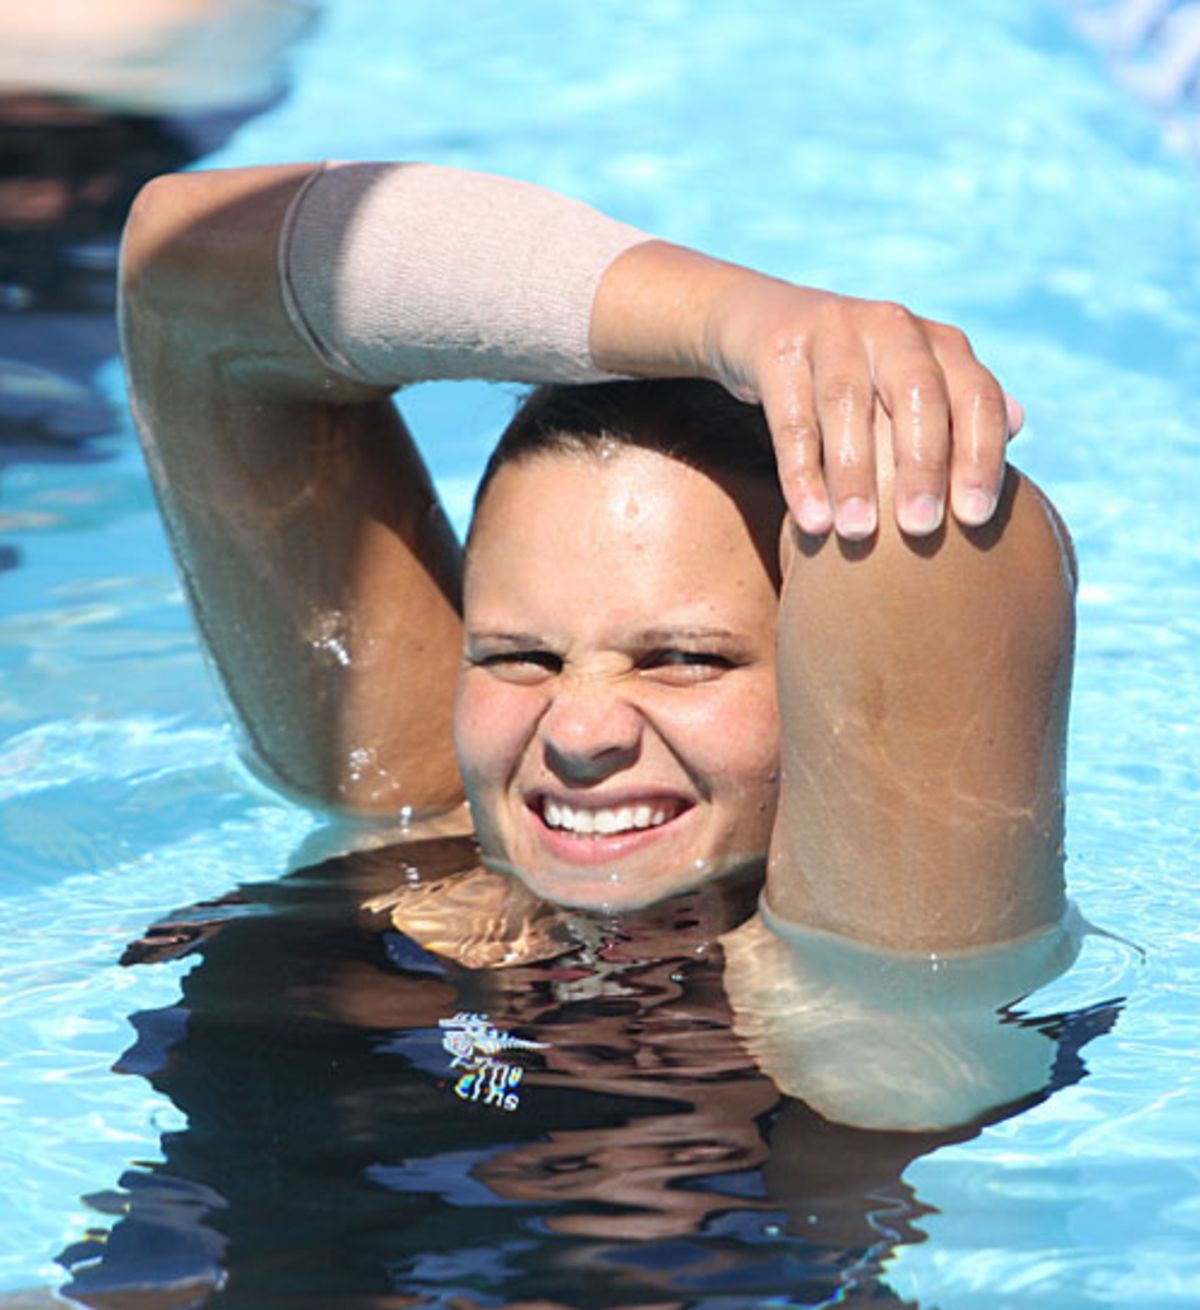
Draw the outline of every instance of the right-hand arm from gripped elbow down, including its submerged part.
M1011 1111L1055 1044L1001 1007L1068 968L1081 933L1062 884L1066 532L1010 469L981 528L912 538L884 512L870 542L785 525L782 548L779 808L764 913L723 938L735 1028L840 1123Z

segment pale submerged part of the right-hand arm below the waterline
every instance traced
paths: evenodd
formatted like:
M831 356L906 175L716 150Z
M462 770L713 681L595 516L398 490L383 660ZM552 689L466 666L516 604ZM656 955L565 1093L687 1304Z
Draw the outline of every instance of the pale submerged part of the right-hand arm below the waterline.
M1006 1007L1064 973L1085 931L1070 907L1005 946L904 954L781 922L764 904L724 938L724 982L736 1031L781 1090L859 1128L955 1125L1047 1086L1056 1035Z

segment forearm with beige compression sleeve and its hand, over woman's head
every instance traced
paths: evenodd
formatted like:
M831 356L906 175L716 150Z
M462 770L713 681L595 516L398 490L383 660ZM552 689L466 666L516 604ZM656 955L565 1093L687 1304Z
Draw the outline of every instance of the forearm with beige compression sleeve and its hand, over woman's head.
M908 533L937 531L947 494L963 523L994 511L1019 407L1006 409L962 333L899 305L791 286L650 240L541 187L456 169L293 166L164 185L200 216L152 262L169 301L194 313L231 291L220 274L232 270L249 274L263 304L287 305L291 330L271 316L267 341L279 348L255 385L316 379L321 398L354 401L351 380L369 397L424 377L711 377L764 406L800 525L836 525L848 538L875 527L871 414L882 403ZM238 190L254 186L286 202L269 214L272 233L291 207L278 269L242 212L257 223L274 196L220 210L224 193L244 200ZM246 345L262 360L263 343Z

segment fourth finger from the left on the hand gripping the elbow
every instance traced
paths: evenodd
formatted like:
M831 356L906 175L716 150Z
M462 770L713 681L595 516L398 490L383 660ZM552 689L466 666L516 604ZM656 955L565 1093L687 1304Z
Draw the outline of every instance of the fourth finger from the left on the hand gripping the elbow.
M933 342L950 392L950 503L959 523L977 527L992 517L1000 500L1010 430L1007 398L958 329L941 329Z

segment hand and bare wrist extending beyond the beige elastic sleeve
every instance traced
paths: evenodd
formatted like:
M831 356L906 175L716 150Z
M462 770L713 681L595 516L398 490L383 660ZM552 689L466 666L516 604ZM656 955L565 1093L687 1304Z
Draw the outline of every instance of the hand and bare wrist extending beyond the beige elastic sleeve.
M996 511L1021 406L956 328L901 305L797 287L694 250L645 242L596 296L592 358L633 376L711 377L761 403L779 482L808 533L869 537L879 495L874 422L891 421L890 503L905 532Z

